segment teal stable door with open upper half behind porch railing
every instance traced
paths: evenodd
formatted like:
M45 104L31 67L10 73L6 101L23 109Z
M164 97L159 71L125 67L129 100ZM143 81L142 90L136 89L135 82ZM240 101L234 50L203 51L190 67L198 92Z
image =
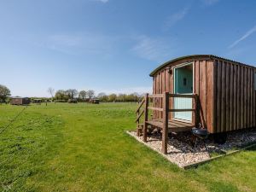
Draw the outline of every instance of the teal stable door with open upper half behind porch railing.
M193 70L191 66L175 68L174 72L174 93L192 94L193 93ZM174 108L192 108L191 98L174 98ZM192 112L175 112L175 119L192 120Z

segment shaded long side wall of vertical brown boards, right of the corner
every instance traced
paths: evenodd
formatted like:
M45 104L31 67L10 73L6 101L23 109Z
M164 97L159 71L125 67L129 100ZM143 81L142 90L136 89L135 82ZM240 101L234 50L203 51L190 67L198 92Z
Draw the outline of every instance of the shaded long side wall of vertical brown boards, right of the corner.
M256 127L254 67L214 61L213 132Z

